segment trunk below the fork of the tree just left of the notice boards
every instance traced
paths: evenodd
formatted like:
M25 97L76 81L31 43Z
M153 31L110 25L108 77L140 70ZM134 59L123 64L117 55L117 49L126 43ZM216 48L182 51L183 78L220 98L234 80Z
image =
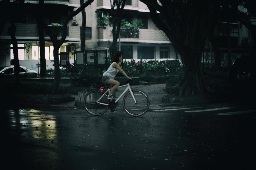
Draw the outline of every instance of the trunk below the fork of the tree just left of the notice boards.
M53 58L54 58L54 80L52 93L58 93L60 84L60 63L59 63L59 46L53 45Z

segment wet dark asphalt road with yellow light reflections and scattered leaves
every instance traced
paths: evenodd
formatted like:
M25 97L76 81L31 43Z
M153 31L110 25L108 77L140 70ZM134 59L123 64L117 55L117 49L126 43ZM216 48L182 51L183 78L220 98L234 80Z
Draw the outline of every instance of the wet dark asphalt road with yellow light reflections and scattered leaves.
M6 109L4 169L255 169L254 109L154 106L141 117L120 107L101 116L82 108Z

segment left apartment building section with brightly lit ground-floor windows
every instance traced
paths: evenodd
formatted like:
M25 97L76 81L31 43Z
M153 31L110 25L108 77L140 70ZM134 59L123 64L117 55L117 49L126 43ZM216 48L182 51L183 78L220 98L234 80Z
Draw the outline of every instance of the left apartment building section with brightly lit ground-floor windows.
M14 24L16 26L15 36L18 42L18 55L19 63L32 70L37 70L36 67L40 63L40 44L38 34L38 23L36 18L30 12L31 8L35 8L38 5L39 0L25 1L24 9L14 11ZM52 26L53 23L62 24L64 16L69 11L73 11L77 7L80 7L79 0L49 0L44 1L44 17L46 23ZM9 66L13 59L13 46L11 44L10 35L7 34L8 27L10 26L10 20L4 25L3 31L0 34L0 65ZM58 27L62 29L62 27ZM62 36L60 31L58 39ZM67 36L65 42L62 44L59 52L67 52L70 54L70 62L72 63L72 56L76 48L79 48L80 41L80 25L73 19L69 21L67 28ZM45 58L46 69L54 69L53 66L53 44L50 37L45 32ZM40 71L40 70L39 70Z

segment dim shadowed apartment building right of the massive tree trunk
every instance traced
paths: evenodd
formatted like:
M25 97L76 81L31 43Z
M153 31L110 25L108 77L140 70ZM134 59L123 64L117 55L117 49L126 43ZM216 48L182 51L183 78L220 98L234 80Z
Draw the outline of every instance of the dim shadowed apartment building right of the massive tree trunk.
M239 6L238 9L241 12L247 12L247 9L243 6ZM255 19L252 19L251 23L255 25ZM244 54L255 52L256 45L254 32L251 32L245 25L237 20L230 20L228 25L225 17L220 18L214 33L219 44L220 60L223 65L227 64L228 61L228 27L232 63ZM206 44L206 46L204 55L210 61L210 44Z

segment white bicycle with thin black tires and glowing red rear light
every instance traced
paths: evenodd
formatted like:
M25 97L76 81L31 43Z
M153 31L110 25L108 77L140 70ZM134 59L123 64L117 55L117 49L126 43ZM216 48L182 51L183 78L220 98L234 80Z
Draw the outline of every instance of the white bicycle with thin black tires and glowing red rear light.
M127 86L123 93L115 100L108 99L107 92L111 89L104 90L91 90L84 97L85 110L92 115L102 115L109 109L116 108L117 101L125 94L123 98L123 107L126 113L132 116L141 116L147 112L149 108L148 95L141 90L133 90L129 84L131 81L127 81L126 85L119 86L118 88Z

